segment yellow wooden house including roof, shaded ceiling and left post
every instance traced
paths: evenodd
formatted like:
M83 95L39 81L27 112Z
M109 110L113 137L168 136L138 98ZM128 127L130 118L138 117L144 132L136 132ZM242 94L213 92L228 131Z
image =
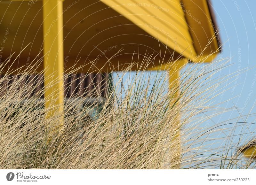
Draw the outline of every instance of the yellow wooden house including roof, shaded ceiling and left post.
M3 71L43 58L36 70L47 69L45 86L59 80L44 89L48 117L64 110L54 105L63 104L69 68L110 72L135 64L131 70L154 70L170 59L181 67L211 62L221 46L209 0L2 0L0 42L0 64L22 51ZM138 63L145 53L154 60ZM177 68L167 69L170 81L178 77Z

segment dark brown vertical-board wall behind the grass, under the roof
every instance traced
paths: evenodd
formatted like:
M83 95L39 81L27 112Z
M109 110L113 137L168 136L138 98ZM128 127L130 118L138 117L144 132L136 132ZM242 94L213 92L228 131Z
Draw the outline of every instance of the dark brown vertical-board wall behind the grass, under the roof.
M4 80L1 80L4 78ZM20 75L0 75L0 97L3 96L17 81ZM22 82L19 83L17 89L23 88L24 85L31 87L33 90L27 89L24 92L23 98L30 98L39 94L38 98L44 98L44 75L43 74L29 74L26 78L22 77ZM64 98L76 97L101 97L107 96L108 89L111 88L111 76L108 73L76 73L65 75L64 77Z

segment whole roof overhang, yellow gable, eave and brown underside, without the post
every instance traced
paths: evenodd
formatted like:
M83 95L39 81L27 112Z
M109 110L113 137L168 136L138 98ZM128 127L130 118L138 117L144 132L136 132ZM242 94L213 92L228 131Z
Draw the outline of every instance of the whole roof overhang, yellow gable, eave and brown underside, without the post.
M13 52L20 53L30 43L15 67L26 66L43 49L43 4L42 1L29 2L32 1L2 0L0 3L0 36L6 37L1 62ZM202 23L190 19L187 9ZM219 47L206 1L159 0L154 4L151 0L65 0L63 18L66 70L84 64L88 64L88 68L83 71L121 70L138 59L145 59L145 53L154 53L151 59L155 60L145 62L149 67L162 63L164 57L176 59L180 55L193 62L202 61L206 56L204 61L211 61L216 55L211 54ZM211 38L212 42L206 47ZM111 58L120 49L123 51ZM42 56L41 52L39 58ZM107 58L111 58L108 64ZM92 69L90 64L95 59ZM38 66L38 70L42 68ZM132 70L138 70L138 66Z

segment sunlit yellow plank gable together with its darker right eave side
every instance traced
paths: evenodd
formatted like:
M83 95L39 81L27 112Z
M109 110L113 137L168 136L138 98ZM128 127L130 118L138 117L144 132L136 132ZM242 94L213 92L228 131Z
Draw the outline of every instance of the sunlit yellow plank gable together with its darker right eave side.
M209 0L160 0L157 5L151 0L102 2L193 62L210 62L220 52Z

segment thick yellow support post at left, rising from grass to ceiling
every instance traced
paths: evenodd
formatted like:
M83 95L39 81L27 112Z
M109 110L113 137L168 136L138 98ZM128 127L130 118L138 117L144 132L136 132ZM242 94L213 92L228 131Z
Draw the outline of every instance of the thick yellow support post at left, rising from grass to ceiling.
M47 142L64 124L62 6L62 0L43 0L44 101L46 119L51 123ZM55 116L58 118L50 121Z

